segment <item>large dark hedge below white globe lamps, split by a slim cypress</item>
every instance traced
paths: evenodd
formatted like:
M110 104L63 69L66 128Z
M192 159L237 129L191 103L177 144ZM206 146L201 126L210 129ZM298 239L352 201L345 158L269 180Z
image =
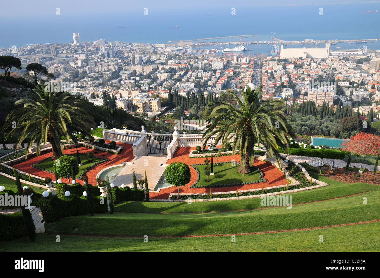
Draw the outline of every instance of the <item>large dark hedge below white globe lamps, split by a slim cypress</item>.
M40 199L37 202L37 206L40 207L42 216L46 222L54 222L63 217L87 214L87 197L78 197L74 194L69 197L49 195L47 198ZM95 213L103 213L108 211L106 197L92 196L92 198ZM103 204L101 204L102 198Z

